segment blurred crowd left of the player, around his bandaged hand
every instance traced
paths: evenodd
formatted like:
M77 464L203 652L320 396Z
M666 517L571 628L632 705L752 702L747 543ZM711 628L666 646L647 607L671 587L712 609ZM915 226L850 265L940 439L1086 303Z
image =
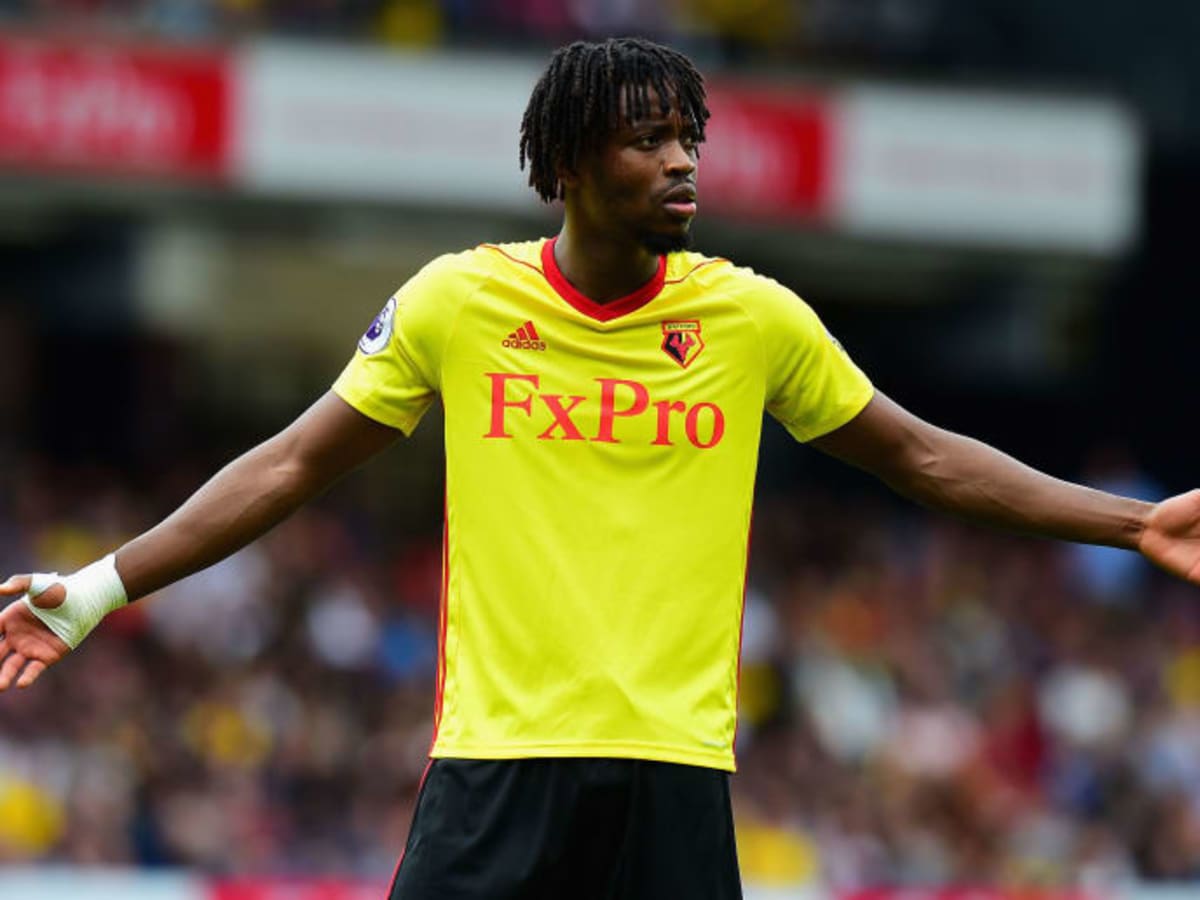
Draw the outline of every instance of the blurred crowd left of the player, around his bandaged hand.
M185 493L5 466L0 558L73 570ZM390 872L431 737L438 552L314 506L109 617L0 697L0 860Z

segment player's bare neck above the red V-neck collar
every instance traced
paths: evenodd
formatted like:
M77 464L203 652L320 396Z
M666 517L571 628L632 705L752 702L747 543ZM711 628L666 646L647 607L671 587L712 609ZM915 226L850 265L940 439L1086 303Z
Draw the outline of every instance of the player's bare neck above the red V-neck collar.
M632 294L659 266L659 257L636 241L583 235L568 222L554 242L554 262L576 290L598 304Z

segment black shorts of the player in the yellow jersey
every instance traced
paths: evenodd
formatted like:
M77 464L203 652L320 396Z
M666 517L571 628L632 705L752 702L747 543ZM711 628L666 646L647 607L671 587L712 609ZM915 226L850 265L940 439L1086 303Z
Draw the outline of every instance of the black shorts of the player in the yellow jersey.
M390 900L739 900L728 773L434 760Z

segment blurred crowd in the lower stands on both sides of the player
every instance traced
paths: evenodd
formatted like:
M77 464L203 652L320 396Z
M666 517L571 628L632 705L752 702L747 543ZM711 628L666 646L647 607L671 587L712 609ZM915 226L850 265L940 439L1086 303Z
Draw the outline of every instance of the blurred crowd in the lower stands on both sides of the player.
M199 473L0 467L0 568L71 570ZM0 860L385 878L432 728L438 524L343 492L0 696ZM1200 880L1200 595L875 497L756 511L734 810L757 882Z

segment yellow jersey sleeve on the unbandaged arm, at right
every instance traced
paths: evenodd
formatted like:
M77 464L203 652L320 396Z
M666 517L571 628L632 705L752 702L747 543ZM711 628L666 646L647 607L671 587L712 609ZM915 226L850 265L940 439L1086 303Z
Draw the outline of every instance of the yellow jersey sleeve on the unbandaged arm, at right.
M797 440L841 427L875 388L812 308L787 288L762 280L755 302L767 356L767 412Z

